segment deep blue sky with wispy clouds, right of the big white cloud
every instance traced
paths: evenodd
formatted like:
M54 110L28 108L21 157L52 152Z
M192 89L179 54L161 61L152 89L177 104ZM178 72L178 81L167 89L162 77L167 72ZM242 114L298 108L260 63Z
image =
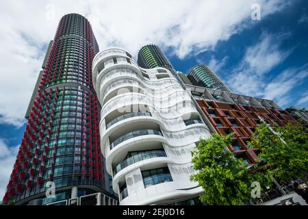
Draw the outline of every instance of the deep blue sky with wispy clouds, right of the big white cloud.
M307 1L294 1L279 13L261 21L248 21L250 28L234 34L229 40L219 41L213 50L185 60L176 55L169 56L170 62L183 73L188 73L198 63L204 63L214 69L233 92L273 99L283 108L291 105L307 107L307 10ZM262 48L264 52L257 55ZM263 68L266 60L270 61ZM255 68L250 62L257 62L260 67ZM248 78L238 77L242 71L248 73ZM247 82L253 82L258 88L251 83L241 86Z

